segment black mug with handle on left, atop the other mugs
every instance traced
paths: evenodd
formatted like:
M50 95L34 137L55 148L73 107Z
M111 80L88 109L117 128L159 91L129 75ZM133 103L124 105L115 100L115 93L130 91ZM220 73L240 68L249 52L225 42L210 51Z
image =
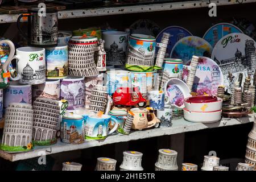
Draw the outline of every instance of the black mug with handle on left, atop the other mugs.
M20 28L20 19L28 18L28 34ZM32 8L28 14L20 15L17 20L19 31L27 37L28 46L56 47L58 40L58 15L55 9Z

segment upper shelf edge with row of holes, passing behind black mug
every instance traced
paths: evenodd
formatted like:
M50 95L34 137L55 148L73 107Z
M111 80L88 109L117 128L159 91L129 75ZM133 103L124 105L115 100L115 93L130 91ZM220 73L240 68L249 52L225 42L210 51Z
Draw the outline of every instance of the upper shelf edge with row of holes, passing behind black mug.
M242 3L253 3L256 0L211 0L211 3L216 3L217 6L223 5L237 5ZM131 5L131 6L118 6L118 7L102 7L93 9L79 9L79 10L63 10L58 12L59 19L68 18L82 18L90 16L104 16L104 15L117 15L117 14L130 14L130 13L146 13L154 11L167 11L179 9L192 9L199 7L208 7L209 0L201 1L185 1L185 2L166 2L154 3L147 5ZM0 15L0 23L16 22L20 14L2 14Z

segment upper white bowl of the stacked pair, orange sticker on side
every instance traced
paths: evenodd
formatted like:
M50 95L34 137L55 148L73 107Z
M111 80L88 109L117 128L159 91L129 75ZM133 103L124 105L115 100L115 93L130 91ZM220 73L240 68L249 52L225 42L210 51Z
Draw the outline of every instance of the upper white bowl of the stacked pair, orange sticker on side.
M195 102L189 101L189 98L185 98L184 105L185 105L185 109L189 111L212 112L212 111L221 110L222 99L217 98L217 101L213 101L213 102L195 103Z

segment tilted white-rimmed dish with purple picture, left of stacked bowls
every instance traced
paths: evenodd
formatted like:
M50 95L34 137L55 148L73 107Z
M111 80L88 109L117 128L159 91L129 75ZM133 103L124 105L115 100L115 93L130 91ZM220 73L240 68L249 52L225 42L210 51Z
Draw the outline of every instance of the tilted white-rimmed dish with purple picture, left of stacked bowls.
M191 97L187 84L178 78L168 80L164 86L164 91L169 98L170 103L168 104L171 104L176 109L183 109L184 99Z

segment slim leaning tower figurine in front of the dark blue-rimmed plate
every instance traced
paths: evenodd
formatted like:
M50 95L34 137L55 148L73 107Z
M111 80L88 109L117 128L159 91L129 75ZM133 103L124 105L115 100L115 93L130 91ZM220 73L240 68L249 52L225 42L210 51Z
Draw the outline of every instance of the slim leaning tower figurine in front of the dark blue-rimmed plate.
M164 56L166 55L166 49L169 42L170 34L163 33L163 37L161 39L160 48L158 50L158 55L156 56L155 66L156 69L162 69Z

